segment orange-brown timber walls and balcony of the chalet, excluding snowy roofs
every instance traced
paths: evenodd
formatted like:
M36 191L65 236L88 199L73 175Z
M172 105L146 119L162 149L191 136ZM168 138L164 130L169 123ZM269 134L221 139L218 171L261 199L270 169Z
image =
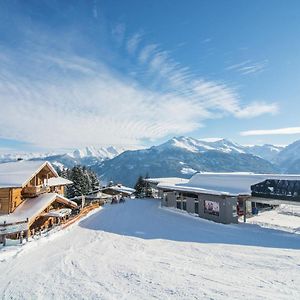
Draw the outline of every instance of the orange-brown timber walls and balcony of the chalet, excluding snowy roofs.
M16 174L18 175L17 171ZM48 182L49 179L56 180L50 184L50 181ZM4 182L6 182L6 179L4 179ZM2 239L4 237L4 240L7 235L11 238L16 238L21 232L26 232L26 235L29 236L35 231L41 231L63 221L62 217L47 216L47 213L49 213L49 211L58 211L66 207L71 209L77 208L76 203L63 197L64 185L70 183L70 181L60 178L49 163L41 163L38 169L29 176L23 184L20 184L20 186L4 187L3 184L2 187L0 187L0 218L2 220L0 222L0 237L2 236ZM49 194L49 197L47 196L45 198L45 194L47 193L51 193L51 195ZM42 198L46 199L46 202L42 200ZM42 204L44 202L35 201L44 201L45 204ZM21 212L24 212L24 209L28 209L28 203L30 203L30 207L36 205L34 203L41 203L42 207L45 205L45 209L42 212L39 211L36 215L32 215L32 212L29 212L28 215L23 213L25 217L22 217L21 220L20 211L18 212L16 209L22 203L24 203L24 206L22 206ZM38 205L38 207L40 206ZM10 221L12 220L10 217L14 216L14 211L16 211L19 217L16 221ZM23 215L21 213L21 216ZM24 223L26 229L24 229L23 226L20 232L14 231L12 234L5 233L10 230L8 229L9 227L17 226L18 223Z

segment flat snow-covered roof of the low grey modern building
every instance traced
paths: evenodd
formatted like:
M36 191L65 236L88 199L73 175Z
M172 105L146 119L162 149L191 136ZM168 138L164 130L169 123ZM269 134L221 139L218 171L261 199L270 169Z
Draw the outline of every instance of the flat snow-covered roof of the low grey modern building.
M254 174L254 173L197 173L187 183L166 183L157 187L177 191L213 195L251 195L251 186L265 180L299 180L300 175Z

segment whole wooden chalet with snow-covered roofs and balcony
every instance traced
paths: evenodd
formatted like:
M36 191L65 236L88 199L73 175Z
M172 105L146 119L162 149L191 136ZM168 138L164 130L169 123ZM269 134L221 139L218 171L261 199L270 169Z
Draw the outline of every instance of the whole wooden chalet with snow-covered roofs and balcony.
M0 164L0 241L26 236L60 223L77 204L64 197L72 184L59 177L49 162L17 161Z

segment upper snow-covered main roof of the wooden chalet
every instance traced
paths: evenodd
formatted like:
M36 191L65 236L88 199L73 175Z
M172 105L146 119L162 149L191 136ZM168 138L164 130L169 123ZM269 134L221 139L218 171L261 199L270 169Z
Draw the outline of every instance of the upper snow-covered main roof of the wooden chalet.
M58 177L55 169L47 161L21 160L0 164L0 188L24 187L44 166Z

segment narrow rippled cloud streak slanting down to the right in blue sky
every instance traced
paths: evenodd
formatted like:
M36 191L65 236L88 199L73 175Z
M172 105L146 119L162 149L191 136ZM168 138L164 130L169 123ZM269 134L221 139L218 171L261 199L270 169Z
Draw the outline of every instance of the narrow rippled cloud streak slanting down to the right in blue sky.
M236 118L254 118L263 114L276 114L276 103L252 102L242 106L240 96L234 87L223 82L206 80L195 76L188 67L174 61L170 52L161 50L159 45L146 45L140 51L139 63L146 65L148 71L156 73L159 82L181 96L200 104L216 116L231 114ZM248 63L248 62L247 62ZM246 64L246 63L245 63Z

